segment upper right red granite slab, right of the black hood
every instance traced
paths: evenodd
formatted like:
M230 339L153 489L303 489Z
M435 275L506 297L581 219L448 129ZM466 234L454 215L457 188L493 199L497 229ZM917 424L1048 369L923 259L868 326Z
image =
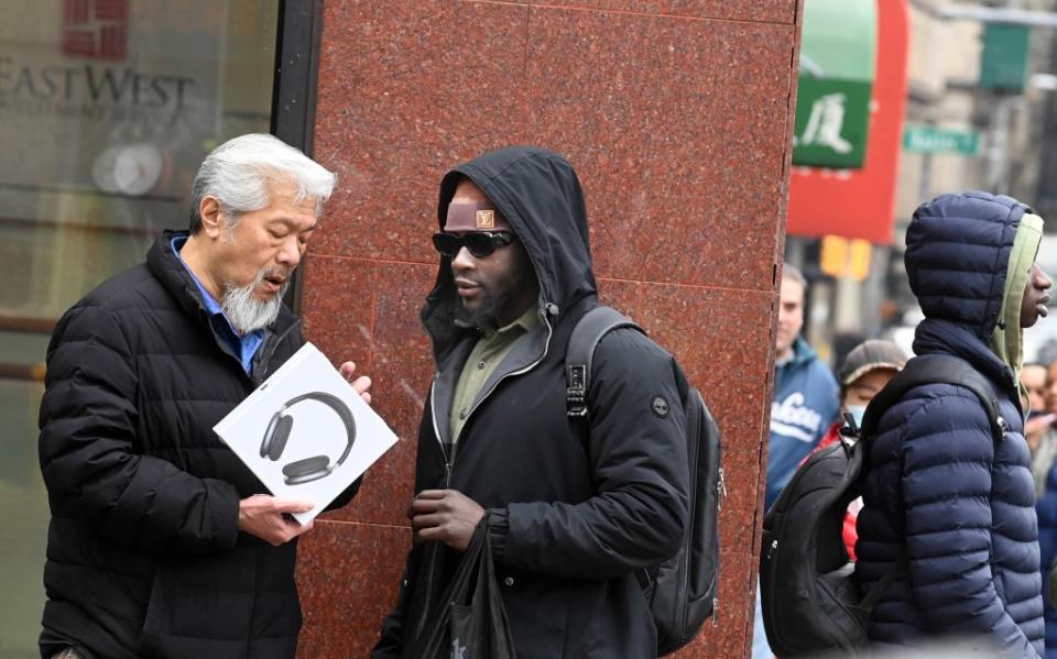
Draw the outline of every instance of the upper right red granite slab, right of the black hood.
M774 244L791 28L533 8L530 31L528 130L577 166L599 276L770 290L741 256Z

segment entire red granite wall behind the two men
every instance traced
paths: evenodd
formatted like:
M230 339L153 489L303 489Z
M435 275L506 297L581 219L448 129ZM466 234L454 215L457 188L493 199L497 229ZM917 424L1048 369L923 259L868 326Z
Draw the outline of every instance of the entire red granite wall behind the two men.
M795 0L327 0L316 156L339 187L305 263L305 329L374 381L401 441L302 540L299 656L363 657L411 534L433 361L436 188L533 143L587 194L601 299L705 393L724 438L720 608L680 657L744 657L752 629L775 287L798 35Z

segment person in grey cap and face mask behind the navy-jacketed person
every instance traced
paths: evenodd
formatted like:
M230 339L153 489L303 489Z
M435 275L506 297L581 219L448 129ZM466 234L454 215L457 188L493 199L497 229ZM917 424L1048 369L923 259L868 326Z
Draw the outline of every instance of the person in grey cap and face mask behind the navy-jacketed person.
M841 418L829 427L829 431L811 452L820 451L840 439L840 429L848 424L846 416L851 417L854 430L858 431L862 426L867 405L903 370L905 363L906 354L892 341L871 339L856 345L844 358L838 372ZM848 513L844 515L842 534L851 560L856 560L856 519L861 508L862 499L857 498L848 505Z

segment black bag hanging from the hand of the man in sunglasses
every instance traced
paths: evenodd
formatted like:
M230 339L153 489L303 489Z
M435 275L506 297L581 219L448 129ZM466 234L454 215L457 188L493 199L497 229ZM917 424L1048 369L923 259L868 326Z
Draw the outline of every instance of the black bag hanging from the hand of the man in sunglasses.
M487 516L473 529L470 545L440 606L415 648L422 659L516 659L510 620L503 607Z

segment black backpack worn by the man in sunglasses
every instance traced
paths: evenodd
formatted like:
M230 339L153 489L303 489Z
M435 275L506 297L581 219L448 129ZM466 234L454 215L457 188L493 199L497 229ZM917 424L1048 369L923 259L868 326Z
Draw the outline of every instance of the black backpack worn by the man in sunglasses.
M587 416L595 348L617 328L645 331L611 307L588 311L573 329L565 353L566 406L570 417ZM690 514L679 551L643 570L639 581L657 627L657 653L688 644L719 605L719 510L727 494L720 465L719 427L700 392L682 370L676 383L686 410L686 449L690 471ZM715 620L715 618L713 618Z

